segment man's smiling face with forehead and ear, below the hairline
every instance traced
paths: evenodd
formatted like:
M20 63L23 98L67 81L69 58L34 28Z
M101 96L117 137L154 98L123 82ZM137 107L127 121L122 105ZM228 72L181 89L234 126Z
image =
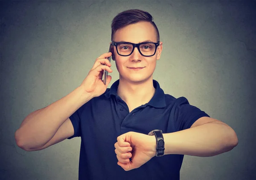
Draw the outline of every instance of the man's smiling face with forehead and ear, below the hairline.
M149 22L139 22L130 24L121 29L118 29L114 34L114 42L131 42L141 43L143 41L152 41L157 43L157 36L154 26ZM119 72L119 78L131 82L145 81L150 78L155 70L156 62L160 59L162 52L162 42L157 46L155 55L145 57L140 54L135 47L134 52L129 56L121 56L116 52L116 47L113 46L113 60L116 61L116 68ZM129 67L144 67L140 70L132 70Z

